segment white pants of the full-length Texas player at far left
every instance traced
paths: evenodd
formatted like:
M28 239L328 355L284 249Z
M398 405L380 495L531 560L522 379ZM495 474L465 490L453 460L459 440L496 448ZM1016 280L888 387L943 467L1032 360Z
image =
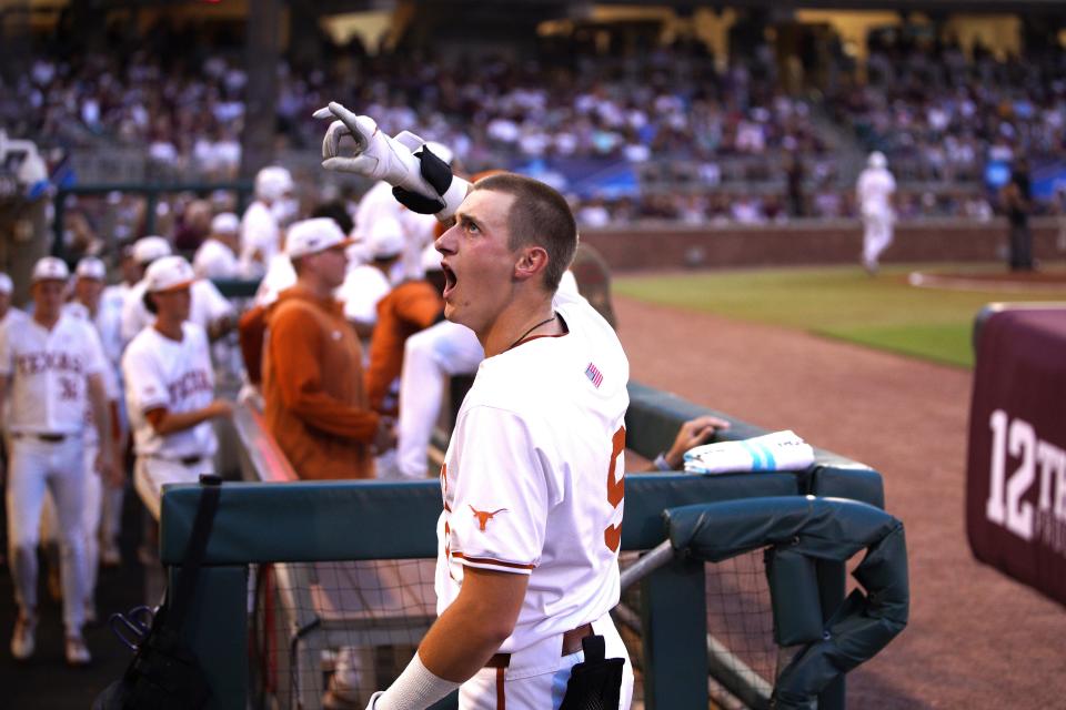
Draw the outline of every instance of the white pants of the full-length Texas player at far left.
M82 526L86 469L81 435L43 442L11 437L8 476L8 548L14 600L24 613L37 609L37 545L46 494L56 503L63 587L63 626L81 633L86 620L86 542Z

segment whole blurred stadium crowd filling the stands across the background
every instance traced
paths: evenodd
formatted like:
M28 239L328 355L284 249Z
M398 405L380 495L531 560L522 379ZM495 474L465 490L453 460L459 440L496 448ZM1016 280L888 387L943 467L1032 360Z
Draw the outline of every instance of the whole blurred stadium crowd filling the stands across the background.
M58 45L0 87L0 126L67 151L142 150L155 175L232 179L247 110L243 57L222 41L172 51L187 41L162 24L115 39L123 51ZM1066 151L1060 50L1000 60L978 43L967 58L952 42L874 37L867 78L838 72L815 104L784 91L765 43L723 68L696 41L624 55L562 41L545 40L525 60L475 60L369 54L323 38L325 59L313 68L279 65L278 145L313 151L311 113L333 95L390 133L415 128L450 145L474 171L545 161L552 170L567 160L628 166L638 189L573 197L586 225L854 217L841 139L887 155L901 180L901 219L987 219L999 205L984 186L986 163ZM819 111L832 123L819 122Z

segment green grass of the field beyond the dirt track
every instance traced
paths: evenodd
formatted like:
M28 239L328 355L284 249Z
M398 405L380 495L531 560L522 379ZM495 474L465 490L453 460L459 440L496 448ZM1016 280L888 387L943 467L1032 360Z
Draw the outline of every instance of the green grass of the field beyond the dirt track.
M624 276L615 293L662 305L798 328L869 347L972 367L974 316L992 302L1060 301L1066 288L1016 293L915 288L912 271L989 271L992 265L892 266L871 278L858 267L761 268Z

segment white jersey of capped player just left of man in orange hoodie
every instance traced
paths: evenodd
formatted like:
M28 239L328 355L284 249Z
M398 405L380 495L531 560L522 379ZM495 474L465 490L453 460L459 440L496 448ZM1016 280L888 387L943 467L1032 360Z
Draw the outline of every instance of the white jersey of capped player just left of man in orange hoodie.
M144 328L122 356L125 403L139 456L178 459L211 456L218 448L211 422L160 436L145 417L159 408L172 413L202 409L214 399L208 336L189 322L182 323L181 331L181 342L177 342L153 327Z

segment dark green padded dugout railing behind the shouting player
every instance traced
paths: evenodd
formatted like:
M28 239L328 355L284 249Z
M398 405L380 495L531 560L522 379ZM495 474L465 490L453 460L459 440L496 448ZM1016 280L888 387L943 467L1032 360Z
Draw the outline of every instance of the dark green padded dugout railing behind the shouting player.
M652 458L686 419L706 413L680 397L631 384L627 447ZM720 414L720 413L716 413ZM245 415L239 415L243 417ZM763 430L725 416L727 438ZM248 419L244 419L248 424ZM266 466L245 427L242 465ZM223 486L204 567L184 629L212 688L212 708L251 707L249 663L249 566L432 558L440 514L435 479L415 483L247 483ZM800 473L692 476L628 474L622 534L624 551L650 550L666 539L664 510L745 498L815 495L858 500L882 508L884 493L873 469L816 449L816 462ZM160 558L171 584L199 504L197 486L168 487L162 500ZM822 619L845 599L845 561L813 564ZM703 567L674 559L640 581L644 702L650 709L706 708L708 636ZM785 602L787 604L787 601ZM775 609L775 612L777 610ZM809 612L808 612L809 613ZM845 706L843 676L818 697L823 709Z

